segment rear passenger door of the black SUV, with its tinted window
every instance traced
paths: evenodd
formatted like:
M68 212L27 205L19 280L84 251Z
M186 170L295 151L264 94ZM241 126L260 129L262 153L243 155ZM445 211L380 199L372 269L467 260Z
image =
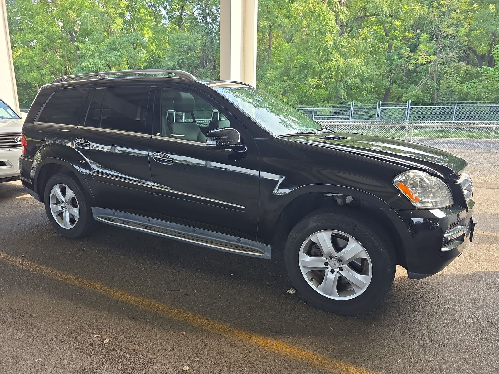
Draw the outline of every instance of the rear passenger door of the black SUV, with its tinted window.
M148 147L155 88L144 85L94 87L74 148L91 166L87 178L98 207L152 211ZM151 103L151 104L149 104Z

